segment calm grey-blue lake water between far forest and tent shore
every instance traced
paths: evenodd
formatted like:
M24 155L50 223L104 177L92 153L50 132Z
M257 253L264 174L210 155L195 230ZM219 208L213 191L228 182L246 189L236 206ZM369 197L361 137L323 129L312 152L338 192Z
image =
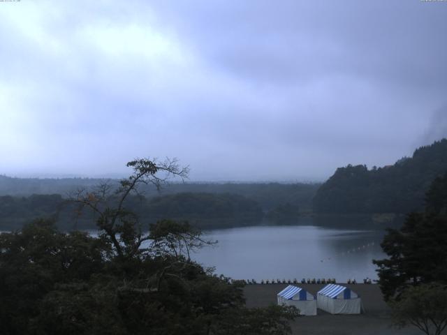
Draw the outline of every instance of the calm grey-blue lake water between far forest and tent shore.
M372 260L385 257L383 232L286 225L211 230L206 237L219 243L193 258L235 279L376 279Z

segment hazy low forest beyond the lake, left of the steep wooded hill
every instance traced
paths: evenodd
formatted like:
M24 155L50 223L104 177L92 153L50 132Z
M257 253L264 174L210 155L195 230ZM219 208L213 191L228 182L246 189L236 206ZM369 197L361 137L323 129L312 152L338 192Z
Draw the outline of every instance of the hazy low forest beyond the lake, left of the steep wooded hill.
M91 221L94 214L84 211L78 215L68 200L77 190L105 183L111 188L118 187L117 180L0 177L1 193L11 193L0 195L0 230L19 229L34 218L52 218L59 229L66 231L95 229ZM278 223L284 215L290 220L296 219L299 211L310 210L317 188L318 184L177 183L167 184L158 192L156 188L142 185L138 196L126 198L126 206L145 223L172 218L188 220L203 229L226 228L257 225L264 219ZM65 193L29 195L29 191ZM293 206L293 213L288 210L284 215L271 215L272 211L278 214L287 206Z

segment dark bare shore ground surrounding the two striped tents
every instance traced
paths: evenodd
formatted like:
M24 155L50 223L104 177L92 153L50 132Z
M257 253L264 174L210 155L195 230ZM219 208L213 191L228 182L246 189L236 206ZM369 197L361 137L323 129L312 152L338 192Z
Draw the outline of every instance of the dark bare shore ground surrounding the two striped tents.
M247 307L263 307L277 304L277 293L288 284L246 285L244 295ZM345 285L362 298L365 313L360 315L331 315L318 309L318 315L298 318L291 323L293 334L301 335L420 335L418 329L395 329L390 326L389 309L383 301L378 285ZM297 284L316 295L324 285Z

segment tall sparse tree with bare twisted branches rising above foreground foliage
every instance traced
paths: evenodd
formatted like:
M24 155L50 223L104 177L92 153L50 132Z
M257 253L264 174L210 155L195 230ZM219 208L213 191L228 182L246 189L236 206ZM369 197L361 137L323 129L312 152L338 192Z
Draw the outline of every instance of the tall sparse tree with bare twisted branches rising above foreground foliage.
M131 175L119 181L119 187L103 183L93 189L80 189L71 198L79 205L78 213L85 207L96 217L100 237L108 241L120 258L144 255L140 248L149 239L144 234L138 216L126 208L131 195L141 195L141 184L152 184L157 190L173 177L182 180L188 176L189 168L181 167L176 159L165 161L138 158L126 164L132 169Z

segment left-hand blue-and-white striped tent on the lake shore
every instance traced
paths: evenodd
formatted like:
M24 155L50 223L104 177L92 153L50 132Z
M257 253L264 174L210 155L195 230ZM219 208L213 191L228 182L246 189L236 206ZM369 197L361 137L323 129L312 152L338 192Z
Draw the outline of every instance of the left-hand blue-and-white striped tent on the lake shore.
M278 304L295 306L300 310L300 315L316 315L316 299L314 295L302 288L288 285L277 294Z

